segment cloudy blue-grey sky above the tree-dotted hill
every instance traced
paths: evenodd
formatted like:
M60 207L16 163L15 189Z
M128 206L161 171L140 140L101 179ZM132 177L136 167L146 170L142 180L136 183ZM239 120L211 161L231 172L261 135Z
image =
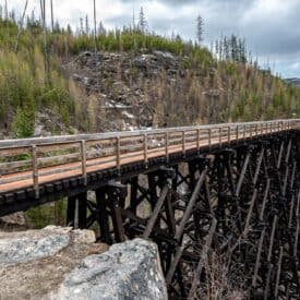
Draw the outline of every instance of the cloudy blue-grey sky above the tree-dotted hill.
M28 11L38 14L39 0L28 1ZM80 17L93 17L93 0L52 1L55 17L64 25L76 27ZM8 4L21 13L25 0ZM300 0L96 0L96 5L97 20L107 28L132 24L133 11L139 15L143 7L151 31L175 32L187 40L195 39L200 14L207 47L220 36L236 34L247 39L262 68L269 67L283 77L300 77Z

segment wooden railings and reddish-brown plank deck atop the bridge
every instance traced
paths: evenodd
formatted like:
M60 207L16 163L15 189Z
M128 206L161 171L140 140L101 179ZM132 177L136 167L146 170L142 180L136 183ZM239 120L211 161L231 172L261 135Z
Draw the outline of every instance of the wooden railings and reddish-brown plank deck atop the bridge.
M232 143L274 132L300 128L300 119L248 123L111 132L52 137L0 141L1 185L23 181L34 187L38 196L40 179L87 173L95 169L118 168L131 161L147 164L151 157ZM28 181L31 180L31 182ZM44 180L44 181L45 181Z

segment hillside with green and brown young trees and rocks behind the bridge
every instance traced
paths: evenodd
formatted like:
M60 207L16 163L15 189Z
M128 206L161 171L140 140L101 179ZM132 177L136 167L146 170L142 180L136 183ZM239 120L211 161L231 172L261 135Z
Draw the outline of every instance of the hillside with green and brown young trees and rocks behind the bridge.
M105 31L95 53L92 36L57 26L45 56L38 21L19 33L1 19L0 40L0 137L300 115L295 86L180 37Z

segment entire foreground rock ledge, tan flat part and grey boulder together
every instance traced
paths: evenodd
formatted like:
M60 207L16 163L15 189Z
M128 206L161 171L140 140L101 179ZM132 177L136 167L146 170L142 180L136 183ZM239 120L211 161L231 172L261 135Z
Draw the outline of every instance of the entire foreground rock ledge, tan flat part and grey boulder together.
M94 231L50 226L0 232L0 299L165 300L167 290L155 244L108 250Z

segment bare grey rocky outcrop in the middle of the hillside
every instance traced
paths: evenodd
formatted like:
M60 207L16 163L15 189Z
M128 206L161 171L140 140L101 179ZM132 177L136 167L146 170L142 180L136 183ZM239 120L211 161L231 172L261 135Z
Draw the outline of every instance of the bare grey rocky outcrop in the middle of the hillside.
M185 76L185 60L164 51L85 51L63 69L86 91L86 106L98 116L97 131L133 130L156 125L154 117L159 112L152 88L161 76L170 85ZM91 95L96 100L91 101Z

